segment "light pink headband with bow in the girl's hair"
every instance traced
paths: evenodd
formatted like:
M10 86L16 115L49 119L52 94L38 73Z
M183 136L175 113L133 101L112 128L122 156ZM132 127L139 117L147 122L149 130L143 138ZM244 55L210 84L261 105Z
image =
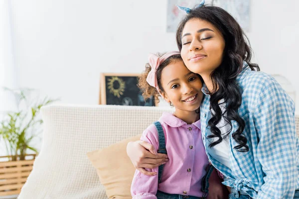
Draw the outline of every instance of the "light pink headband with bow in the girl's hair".
M160 64L162 64L168 57L172 55L180 55L180 52L178 51L171 51L166 54L164 54L162 57L158 57L155 54L150 53L149 54L149 65L151 67L151 70L149 72L149 75L147 77L147 82L149 83L150 86L155 87L162 97L161 93L159 92L159 86L158 86L158 80L157 80L157 75L156 71Z

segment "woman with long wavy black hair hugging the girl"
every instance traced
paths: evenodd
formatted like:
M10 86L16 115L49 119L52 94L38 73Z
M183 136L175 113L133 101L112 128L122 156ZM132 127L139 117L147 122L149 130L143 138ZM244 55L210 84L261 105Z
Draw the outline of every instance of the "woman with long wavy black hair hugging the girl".
M216 6L184 8L176 32L186 67L204 80L202 140L209 160L231 188L230 199L299 199L299 139L295 104L270 75L252 64L251 49L236 20ZM154 168L152 159L128 144L135 167ZM150 149L151 151L151 149ZM140 158L139 161L137 159ZM146 163L146 164L145 164Z

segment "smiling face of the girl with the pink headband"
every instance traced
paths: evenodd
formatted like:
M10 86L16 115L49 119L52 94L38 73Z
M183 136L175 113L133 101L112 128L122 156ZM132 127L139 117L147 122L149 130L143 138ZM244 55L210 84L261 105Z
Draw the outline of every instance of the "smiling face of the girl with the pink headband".
M199 108L203 93L198 75L187 69L182 60L167 65L161 73L163 98L176 110L194 111Z

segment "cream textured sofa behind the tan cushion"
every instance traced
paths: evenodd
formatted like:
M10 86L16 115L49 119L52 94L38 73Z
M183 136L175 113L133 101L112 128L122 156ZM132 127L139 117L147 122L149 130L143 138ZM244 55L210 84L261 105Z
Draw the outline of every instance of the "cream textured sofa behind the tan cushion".
M163 111L171 109L70 104L43 107L42 148L18 199L107 199L86 153L142 133Z

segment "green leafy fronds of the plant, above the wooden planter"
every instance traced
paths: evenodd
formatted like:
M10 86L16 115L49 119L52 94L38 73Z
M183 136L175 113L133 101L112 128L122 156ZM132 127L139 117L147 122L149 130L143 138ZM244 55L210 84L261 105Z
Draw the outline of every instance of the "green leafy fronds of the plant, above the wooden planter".
M9 161L25 160L27 149L38 153L32 146L32 140L41 130L40 108L55 100L45 97L43 100L29 100L30 89L10 90L16 100L16 110L9 111L0 121L0 139L3 139ZM19 158L18 158L19 157Z

